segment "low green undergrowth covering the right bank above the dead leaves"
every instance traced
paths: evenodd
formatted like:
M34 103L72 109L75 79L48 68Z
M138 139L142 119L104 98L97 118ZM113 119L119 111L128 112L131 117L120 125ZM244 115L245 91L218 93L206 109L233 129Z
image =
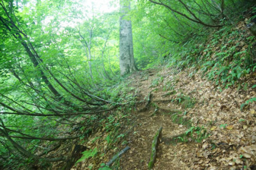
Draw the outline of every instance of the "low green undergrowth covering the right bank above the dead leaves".
M252 10L256 12L256 7ZM241 80L256 69L255 36L249 33L245 24L240 21L210 32L202 30L203 35L211 35L194 35L181 48L173 48L168 66L174 67L176 72L187 67L200 70L219 89L244 85Z

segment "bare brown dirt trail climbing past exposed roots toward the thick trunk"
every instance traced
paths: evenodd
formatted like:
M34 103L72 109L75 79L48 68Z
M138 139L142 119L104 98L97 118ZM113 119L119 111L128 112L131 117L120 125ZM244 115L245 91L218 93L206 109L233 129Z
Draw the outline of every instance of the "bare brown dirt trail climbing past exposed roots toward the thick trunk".
M152 86L152 82L157 79L157 76L157 70L147 70L134 75L133 83L130 85L132 87L138 87L138 101L143 101L151 92L151 100L164 100L161 96L165 92L156 90L157 87ZM161 104L161 107L170 107L168 103L157 102L157 104ZM138 106L137 110L140 110L140 107L144 106ZM140 112L136 116L138 116L136 121L137 126L133 129L133 135L129 138L131 149L121 159L120 169L148 169L152 139L160 127L163 127L163 142L158 146L155 169L169 169L170 167L179 169L179 164L177 166L174 164L177 160L172 157L172 152L169 152L173 150L169 142L171 142L172 137L185 133L187 128L183 125L172 123L170 114L158 113L154 107L149 107L148 110Z

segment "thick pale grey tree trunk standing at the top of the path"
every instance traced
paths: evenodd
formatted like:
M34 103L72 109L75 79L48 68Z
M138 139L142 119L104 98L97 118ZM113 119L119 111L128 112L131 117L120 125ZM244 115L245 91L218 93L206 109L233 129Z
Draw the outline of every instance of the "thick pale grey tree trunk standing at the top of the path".
M137 70L133 56L132 22L127 16L129 10L130 0L120 0L119 60L121 75Z

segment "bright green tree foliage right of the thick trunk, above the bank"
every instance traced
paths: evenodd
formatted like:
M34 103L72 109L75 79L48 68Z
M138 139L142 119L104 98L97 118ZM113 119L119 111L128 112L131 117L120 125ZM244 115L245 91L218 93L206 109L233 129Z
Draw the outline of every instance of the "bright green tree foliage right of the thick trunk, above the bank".
M214 5L211 1L189 1L186 4L181 4L180 1L155 2L165 5L138 1L132 11L134 49L139 67L145 67L147 64L146 68L155 67L169 60L170 66L184 68L197 62L194 56L198 56L204 49L200 44L205 41L205 35L212 31L204 29L206 25L200 25L200 22L209 25L230 24L250 5L247 1L223 1L226 8L224 13L221 13L216 10L221 6L221 1ZM188 12L185 5L192 10ZM183 13L187 18L174 10ZM201 20L199 24L188 19L194 18L191 16L193 13ZM215 43L218 42L218 39L216 40Z

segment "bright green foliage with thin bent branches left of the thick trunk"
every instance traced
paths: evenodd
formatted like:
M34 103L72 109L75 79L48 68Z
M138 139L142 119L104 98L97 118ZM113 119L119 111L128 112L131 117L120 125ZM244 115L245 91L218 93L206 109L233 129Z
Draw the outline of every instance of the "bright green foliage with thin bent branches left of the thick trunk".
M112 90L119 81L118 15L91 18L79 1L17 1L19 7L15 2L0 2L0 24L5 25L0 28L0 128L21 137L13 141L31 155L47 153L41 145L47 142L52 148L55 141L42 137L58 138L81 123L83 140L91 134L92 124L101 126L98 115L87 115L90 110L112 107L104 100L122 102ZM78 30L91 43L91 58ZM74 115L63 115L67 113ZM7 156L4 166L22 169L29 164L31 157L24 156L23 149L15 148L1 133L0 152Z

